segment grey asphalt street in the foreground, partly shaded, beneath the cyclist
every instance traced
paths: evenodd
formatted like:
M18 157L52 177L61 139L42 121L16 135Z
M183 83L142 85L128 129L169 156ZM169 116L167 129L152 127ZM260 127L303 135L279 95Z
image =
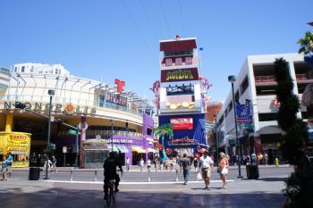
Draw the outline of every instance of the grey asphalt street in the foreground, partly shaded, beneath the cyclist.
M147 172L125 172L114 207L283 207L281 190L291 171L287 167L261 168L260 178L250 180L237 179L238 170L230 170L227 189L221 188L214 173L211 190L204 190L203 182L195 181L195 171L191 171L188 185L176 183L174 172L151 172L151 182ZM68 171L59 171L50 180L28 180L27 171L14 171L12 179L0 181L1 207L106 207L100 173L95 182L92 171L74 172L73 181L69 181ZM244 169L242 174L245 176ZM179 177L181 180L182 172Z

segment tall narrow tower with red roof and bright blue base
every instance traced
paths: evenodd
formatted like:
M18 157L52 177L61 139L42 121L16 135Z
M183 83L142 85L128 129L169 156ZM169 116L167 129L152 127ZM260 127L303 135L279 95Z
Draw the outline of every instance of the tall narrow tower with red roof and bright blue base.
M207 148L205 102L207 79L199 74L199 51L195 37L160 41L161 79L154 84L159 128L172 124L160 137L165 160L175 154L194 155Z

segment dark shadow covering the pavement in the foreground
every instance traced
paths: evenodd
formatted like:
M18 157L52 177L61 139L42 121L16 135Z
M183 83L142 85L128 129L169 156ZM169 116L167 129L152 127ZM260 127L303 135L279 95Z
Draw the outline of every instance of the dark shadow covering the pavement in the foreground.
M198 188L195 188L198 189ZM89 187L54 187L31 193L19 193L16 190L6 190L0 200L1 207L31 207L31 208L97 208L106 207L103 192ZM5 198L5 199L4 199ZM190 189L190 193L165 192L151 193L131 192L121 190L116 196L114 207L127 208L159 208L159 207L223 207L223 208L281 208L284 202L282 194L252 192L249 194L213 194L210 191L200 192Z

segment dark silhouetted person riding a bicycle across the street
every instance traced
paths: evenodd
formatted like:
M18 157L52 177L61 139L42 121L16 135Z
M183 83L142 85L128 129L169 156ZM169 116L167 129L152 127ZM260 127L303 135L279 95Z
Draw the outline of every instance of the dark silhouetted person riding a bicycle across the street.
M116 173L116 167L119 167L121 171L122 170L122 162L116 157L116 154L114 152L110 152L109 153L109 157L106 158L105 163L103 164L103 168L105 170L105 185L104 185L104 189L105 189L105 200L107 199L108 196L108 184L110 179L115 179L115 192L118 192L118 185L120 183L120 177L119 175Z

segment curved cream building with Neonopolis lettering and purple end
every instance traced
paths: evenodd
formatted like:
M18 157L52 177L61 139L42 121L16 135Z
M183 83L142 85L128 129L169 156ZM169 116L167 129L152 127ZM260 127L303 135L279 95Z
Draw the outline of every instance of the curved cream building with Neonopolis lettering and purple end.
M40 72L42 65L46 65L47 72ZM30 69L33 71L28 71ZM112 148L134 164L141 157L146 160L149 154L156 152L151 118L154 107L135 92L118 92L117 87L107 83L70 75L60 64L47 67L47 64L21 63L14 65L13 71L2 69L0 74L3 78L0 80L4 80L0 83L0 131L31 134L30 153L44 153L48 121L16 109L16 101L26 104L33 112L46 115L51 107L51 143L56 146L54 154L59 165L73 165L79 153L81 167L99 167ZM51 106L49 89L55 90ZM57 122L60 120L80 128L78 139ZM1 141L0 146L3 146L1 156L4 150L11 148ZM13 154L16 160L21 154L25 154L22 158L30 156L27 151L17 150Z

